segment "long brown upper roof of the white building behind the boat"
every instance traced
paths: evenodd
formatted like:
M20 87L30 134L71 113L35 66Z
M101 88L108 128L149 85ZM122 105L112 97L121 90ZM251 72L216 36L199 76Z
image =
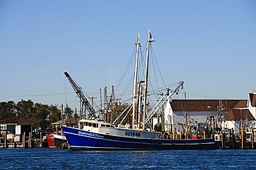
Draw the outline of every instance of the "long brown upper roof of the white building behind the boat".
M172 111L217 111L220 100L172 100ZM247 100L222 100L222 106L226 111L232 108L244 107Z

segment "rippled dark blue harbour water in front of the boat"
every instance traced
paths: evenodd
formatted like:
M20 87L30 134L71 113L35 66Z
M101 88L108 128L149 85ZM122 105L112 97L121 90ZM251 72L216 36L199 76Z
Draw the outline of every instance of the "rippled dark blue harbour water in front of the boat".
M0 149L0 169L256 169L256 150Z

